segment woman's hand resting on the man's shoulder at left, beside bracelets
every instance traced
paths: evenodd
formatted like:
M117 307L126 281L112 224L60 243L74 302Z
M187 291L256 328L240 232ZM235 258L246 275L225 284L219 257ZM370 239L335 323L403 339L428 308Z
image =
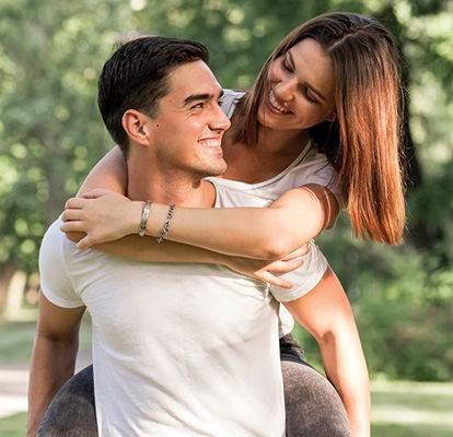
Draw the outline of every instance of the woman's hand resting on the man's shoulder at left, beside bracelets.
M115 191L92 190L82 199L68 200L60 229L86 234L77 245L78 249L86 249L137 233L142 208L142 202L132 202Z

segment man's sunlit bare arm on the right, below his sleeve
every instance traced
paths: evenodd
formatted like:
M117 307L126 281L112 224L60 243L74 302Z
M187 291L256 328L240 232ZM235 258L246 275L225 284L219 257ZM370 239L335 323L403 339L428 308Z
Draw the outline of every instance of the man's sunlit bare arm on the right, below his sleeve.
M327 378L348 414L353 437L370 436L370 386L352 309L330 268L306 295L284 303L292 316L316 339Z

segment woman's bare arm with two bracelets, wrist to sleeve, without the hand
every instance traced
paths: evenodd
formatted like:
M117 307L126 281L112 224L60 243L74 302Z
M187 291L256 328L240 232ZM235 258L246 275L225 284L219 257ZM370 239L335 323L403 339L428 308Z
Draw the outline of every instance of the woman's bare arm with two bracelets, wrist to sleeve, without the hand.
M167 211L167 205L151 205L150 235L160 235ZM269 208L176 208L167 239L226 255L280 259L314 238L338 213L327 188L306 185L287 191Z

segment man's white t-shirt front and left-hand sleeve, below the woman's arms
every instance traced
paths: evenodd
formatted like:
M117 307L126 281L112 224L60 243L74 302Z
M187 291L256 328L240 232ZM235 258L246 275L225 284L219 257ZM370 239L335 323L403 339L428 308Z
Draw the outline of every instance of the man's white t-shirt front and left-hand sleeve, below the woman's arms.
M100 436L284 435L279 304L266 284L79 251L60 223L43 239L42 290L91 314Z

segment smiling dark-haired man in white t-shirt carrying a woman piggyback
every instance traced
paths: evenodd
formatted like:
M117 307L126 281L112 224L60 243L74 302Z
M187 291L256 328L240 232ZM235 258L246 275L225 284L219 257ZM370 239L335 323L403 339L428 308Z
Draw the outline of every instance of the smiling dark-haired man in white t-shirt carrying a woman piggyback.
M100 108L127 156L130 199L214 205L216 188L202 178L225 169L221 95L197 43L148 37L114 54ZM284 435L278 304L265 284L218 265L78 251L58 227L40 253L30 436L73 373L85 307L100 435ZM321 257L314 263L324 271ZM288 306L313 328L298 300Z

